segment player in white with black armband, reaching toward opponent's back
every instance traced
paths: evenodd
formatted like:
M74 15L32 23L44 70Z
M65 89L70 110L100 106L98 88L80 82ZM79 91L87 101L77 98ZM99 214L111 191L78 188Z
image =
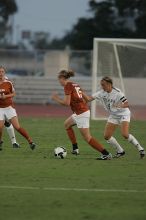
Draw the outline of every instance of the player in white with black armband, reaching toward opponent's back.
M124 149L113 137L115 129L120 125L122 136L137 148L140 153L140 158L143 158L145 156L144 148L132 134L129 134L131 113L128 108L127 98L119 89L113 87L113 81L110 77L102 78L101 87L102 89L92 94L92 96L87 96L85 93L83 95L86 101L95 99L101 101L104 108L109 112L104 138L107 140L107 143L116 148L117 152L115 157L118 158L125 154Z

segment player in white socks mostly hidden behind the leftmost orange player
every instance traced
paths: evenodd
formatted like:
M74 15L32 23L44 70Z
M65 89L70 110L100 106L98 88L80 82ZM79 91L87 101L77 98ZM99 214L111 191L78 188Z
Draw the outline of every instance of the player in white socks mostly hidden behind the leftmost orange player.
M8 80L8 77L5 76L5 79ZM16 141L16 136L15 136L13 125L9 122L7 118L5 119L4 125L7 129L13 148L19 148L20 145ZM0 150L2 150L2 144L3 144L3 141L0 142Z

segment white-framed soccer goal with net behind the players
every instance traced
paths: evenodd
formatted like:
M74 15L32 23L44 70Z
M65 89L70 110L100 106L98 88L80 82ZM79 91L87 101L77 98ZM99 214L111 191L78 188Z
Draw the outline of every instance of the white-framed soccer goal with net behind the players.
M146 92L141 89L142 84L146 83L146 39L95 38L92 94L100 89L100 80L104 76L113 79L114 86L125 93L130 104L146 103L145 96L143 100L141 97L141 93ZM100 102L92 102L91 117L92 119L107 117Z

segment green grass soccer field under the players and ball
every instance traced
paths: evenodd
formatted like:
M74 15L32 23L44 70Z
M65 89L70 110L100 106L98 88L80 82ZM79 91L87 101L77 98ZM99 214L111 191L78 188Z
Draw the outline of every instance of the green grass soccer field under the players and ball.
M139 159L137 150L123 140L119 130L115 136L126 150L125 157L95 160L99 154L84 142L77 129L80 155L71 155L63 121L20 119L38 145L34 151L19 134L17 140L21 148L12 149L4 132L3 151L0 152L0 219L145 220L146 159ZM103 139L104 126L105 122L92 121L91 132L114 153ZM131 122L131 133L143 146L145 131L145 122ZM59 145L68 151L63 160L53 156L53 149ZM94 191L99 189L103 191Z

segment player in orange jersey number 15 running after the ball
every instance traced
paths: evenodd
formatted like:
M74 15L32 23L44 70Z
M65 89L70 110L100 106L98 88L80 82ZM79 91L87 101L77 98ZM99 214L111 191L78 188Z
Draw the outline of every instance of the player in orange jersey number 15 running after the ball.
M95 138L90 134L89 121L90 121L90 110L88 105L85 103L82 90L80 86L69 80L70 77L74 76L73 71L62 70L59 72L59 82L64 87L65 97L60 98L56 93L52 95L52 99L57 103L70 106L73 114L66 119L64 125L67 131L68 137L73 146L73 154L79 154L78 144L73 130L73 126L77 125L85 141L92 146L94 149L102 153L102 156L97 159L108 160L112 158L109 153Z

